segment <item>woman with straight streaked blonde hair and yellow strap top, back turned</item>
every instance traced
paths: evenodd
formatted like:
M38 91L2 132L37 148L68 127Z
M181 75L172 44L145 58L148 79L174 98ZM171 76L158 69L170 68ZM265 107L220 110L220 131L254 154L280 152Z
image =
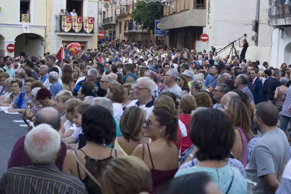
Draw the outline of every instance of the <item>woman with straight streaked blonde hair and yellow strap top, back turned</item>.
M123 136L115 139L114 149L119 149L125 156L131 155L141 143L151 143L150 138L143 137L143 123L146 112L136 106L125 109L120 119L120 131Z

